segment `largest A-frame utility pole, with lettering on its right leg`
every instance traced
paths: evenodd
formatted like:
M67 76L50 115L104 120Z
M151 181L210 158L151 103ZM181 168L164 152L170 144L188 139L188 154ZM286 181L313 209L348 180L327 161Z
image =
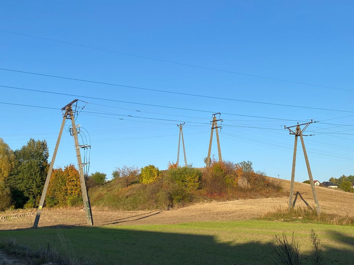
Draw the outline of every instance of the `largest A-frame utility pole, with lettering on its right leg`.
M71 123L72 123L72 126L73 126L73 128L72 128L72 136L74 137L76 158L77 158L77 160L78 160L79 176L80 176L80 184L81 184L81 192L82 192L82 199L83 199L83 201L84 201L84 210L85 210L86 216L87 216L87 224L88 224L88 225L93 225L90 198L89 198L89 194L87 193L86 181L85 181L84 169L83 169L83 167L84 167L85 165L82 164L81 155L80 155L80 148L82 148L83 146L80 146L80 145L79 145L78 134L80 133L80 131L78 131L78 130L76 129L76 125L75 125L75 112L76 112L77 102L78 102L78 99L75 99L75 100L73 100L72 102L70 102L68 105L66 105L66 106L64 106L64 107L62 108L63 121L62 121L62 125L61 125L61 127L60 127L60 130L59 130L59 135L58 135L57 143L56 143L56 145L55 145L55 149L54 149L52 161L51 161L50 166L49 166L49 170L48 170L47 178L46 178L46 181L45 181L45 184L44 184L44 188L43 188L41 200L40 200L40 202L39 202L39 206L38 206L36 218L35 218L35 220L34 220L34 224L33 224L33 227L34 227L34 228L37 228L37 227L38 227L38 222L39 222L39 218L40 218L40 215L41 215L41 211L42 211L42 208L43 208L43 205L44 205L44 199L45 199L45 195L46 195L46 193L47 193L49 180L50 180L50 177L51 177L51 175L52 175L53 165L54 165L55 157L56 157L56 155L57 155L57 151L58 151L58 147L59 147L59 142L60 142L60 139L61 139L61 136L62 136L62 133L63 133L65 121L66 121L67 119L70 119L70 120L71 120ZM74 108L74 110L73 110L73 108ZM85 146L85 147L86 147L86 146Z

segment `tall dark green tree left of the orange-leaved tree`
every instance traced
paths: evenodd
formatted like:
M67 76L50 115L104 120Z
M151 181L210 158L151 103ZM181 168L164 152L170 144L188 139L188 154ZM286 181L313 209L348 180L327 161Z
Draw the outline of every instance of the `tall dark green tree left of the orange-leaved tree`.
M15 206L38 206L47 176L48 146L45 140L30 139L27 145L14 152L15 163L8 183Z

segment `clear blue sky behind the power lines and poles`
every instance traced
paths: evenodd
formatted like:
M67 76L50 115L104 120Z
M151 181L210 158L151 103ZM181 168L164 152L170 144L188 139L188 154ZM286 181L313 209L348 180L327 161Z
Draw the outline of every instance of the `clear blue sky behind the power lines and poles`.
M0 8L0 30L354 90L352 1L2 1ZM354 111L353 91L200 69L3 31L0 40L0 68L223 98ZM209 122L214 112L294 120L221 116L225 125L243 126L223 126L220 133L223 159L251 160L256 170L286 179L291 175L294 136L284 130L284 125L307 119L354 124L354 116L338 118L353 112L208 99L4 70L0 70L0 85L210 111L78 97L90 102L86 111L186 122L183 129L187 162L198 167L204 165L203 158L207 155ZM61 108L75 98L2 87L0 91L1 102L54 108ZM0 137L11 148L21 148L30 137L46 139L52 155L62 120L59 110L0 105ZM178 122L132 117L119 120L115 119L118 116L89 114L82 112L76 122L91 136L91 172L102 171L110 177L112 170L122 165L154 164L166 169L169 161L176 161ZM354 127L335 126L338 125L316 123L307 130L309 134L316 131L315 136L305 137L314 179L325 181L332 176L354 174ZM336 131L339 133L333 133ZM300 142L298 147L296 180L303 181L307 170ZM217 155L216 141L212 153ZM73 139L64 132L55 166L76 164L75 159ZM183 163L183 157L180 161Z

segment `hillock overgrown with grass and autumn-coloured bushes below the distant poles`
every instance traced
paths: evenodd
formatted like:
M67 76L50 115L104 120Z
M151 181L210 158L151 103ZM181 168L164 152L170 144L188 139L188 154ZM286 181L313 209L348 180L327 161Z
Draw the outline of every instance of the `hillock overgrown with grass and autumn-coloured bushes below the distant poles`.
M169 210L193 202L256 199L284 196L279 181L255 172L242 173L230 162L214 163L210 168L178 167L160 171L152 183L127 182L115 178L89 190L94 210Z

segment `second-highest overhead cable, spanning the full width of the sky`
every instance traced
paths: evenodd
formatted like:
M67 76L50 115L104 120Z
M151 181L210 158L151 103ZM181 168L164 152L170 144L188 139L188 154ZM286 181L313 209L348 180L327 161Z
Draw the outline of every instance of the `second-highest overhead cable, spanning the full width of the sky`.
M206 96L206 95L189 94L189 93L182 93L182 92L175 92L175 91L168 91L168 90L143 88L143 87L135 87L135 86L126 86L126 85L121 85L121 84L106 83L106 82L85 80L85 79L80 79L80 78L71 78L71 77L65 77L65 76L47 75L47 74L44 74L44 73L34 73L34 72L19 71L19 70L6 69L6 68L0 68L0 70L12 71L12 72L18 72L18 73L28 73L28 74L31 74L31 75L62 78L62 79L67 79L67 80L75 80L75 81L89 82L89 83L95 83L95 84L104 84L104 85L116 86L116 87L134 88L134 89L141 89L141 90L154 91L154 92L163 92L163 93L171 93L171 94L178 94L178 95L185 95L185 96L197 96L197 97L201 97L201 98L221 99L221 100L239 101L239 102L246 102L246 103L263 104L263 105L283 106L283 107L308 108L308 109L313 109L313 110L326 110L326 111L339 111L339 112L354 113L354 111L346 111L346 110L334 110L334 109L329 109L329 108L315 108L315 107L296 106L296 105L278 104L278 103L261 102L261 101L220 98L220 97L215 97L215 96Z

